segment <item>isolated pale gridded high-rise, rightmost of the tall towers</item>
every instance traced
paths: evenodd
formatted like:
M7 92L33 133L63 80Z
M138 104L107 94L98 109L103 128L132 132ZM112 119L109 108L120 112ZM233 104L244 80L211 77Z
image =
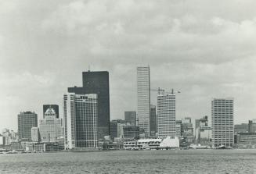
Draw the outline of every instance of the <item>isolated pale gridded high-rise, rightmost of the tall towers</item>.
M213 147L232 147L234 144L233 98L214 98L211 101Z

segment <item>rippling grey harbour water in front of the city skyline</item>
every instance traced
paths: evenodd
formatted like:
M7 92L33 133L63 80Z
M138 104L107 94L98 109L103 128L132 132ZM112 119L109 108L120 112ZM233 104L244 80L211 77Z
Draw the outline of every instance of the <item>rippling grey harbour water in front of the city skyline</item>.
M0 154L0 173L256 173L256 150Z

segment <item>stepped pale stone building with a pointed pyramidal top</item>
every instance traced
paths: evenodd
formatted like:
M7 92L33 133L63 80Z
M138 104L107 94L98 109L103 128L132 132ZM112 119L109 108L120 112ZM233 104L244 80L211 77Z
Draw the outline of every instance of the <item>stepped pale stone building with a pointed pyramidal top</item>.
M63 127L61 119L56 118L56 112L49 106L44 113L45 118L39 121L39 131L42 142L56 142L59 137L63 137Z

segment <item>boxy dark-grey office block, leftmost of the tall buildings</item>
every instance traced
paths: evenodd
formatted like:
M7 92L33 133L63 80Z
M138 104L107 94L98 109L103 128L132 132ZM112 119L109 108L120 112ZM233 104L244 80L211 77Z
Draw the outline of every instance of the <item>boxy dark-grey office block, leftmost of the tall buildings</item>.
M18 115L18 134L23 140L31 140L31 128L38 126L38 115L34 112L20 112Z

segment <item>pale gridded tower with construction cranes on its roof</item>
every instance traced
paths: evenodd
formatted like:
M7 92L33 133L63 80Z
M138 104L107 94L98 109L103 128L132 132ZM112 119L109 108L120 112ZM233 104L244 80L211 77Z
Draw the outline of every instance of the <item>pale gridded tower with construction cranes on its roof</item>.
M158 137L176 136L175 94L157 96L157 133Z

